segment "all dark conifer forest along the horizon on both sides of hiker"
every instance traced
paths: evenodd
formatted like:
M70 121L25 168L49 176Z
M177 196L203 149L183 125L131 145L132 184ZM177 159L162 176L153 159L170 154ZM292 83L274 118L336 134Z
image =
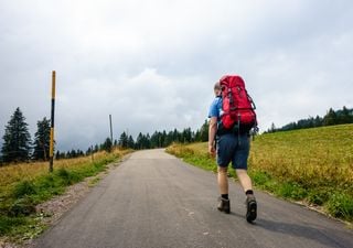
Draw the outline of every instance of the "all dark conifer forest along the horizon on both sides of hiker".
M281 128L276 128L275 123L264 133L289 131L296 129L307 129L323 126L353 123L353 109L349 109L345 106L342 109L333 110L330 108L327 115L323 117L309 117L307 119L300 119L298 121L285 125ZM11 116L8 125L6 126L3 142L0 153L0 165L8 163L25 162L25 161L47 161L50 149L50 130L51 121L45 117L39 120L36 126L38 130L34 133L32 140L29 132L25 117L21 109L18 107ZM93 144L83 150L71 149L68 151L55 151L55 159L71 159L77 157L89 155L97 151L111 151L114 148L120 149L154 149L165 148L173 142L178 143L193 143L205 142L208 138L208 121L205 120L200 129L196 131L191 128L183 130L170 130L170 131L154 131L153 133L140 132L136 139L129 136L127 132L122 132L118 139L110 140L106 138L104 142Z

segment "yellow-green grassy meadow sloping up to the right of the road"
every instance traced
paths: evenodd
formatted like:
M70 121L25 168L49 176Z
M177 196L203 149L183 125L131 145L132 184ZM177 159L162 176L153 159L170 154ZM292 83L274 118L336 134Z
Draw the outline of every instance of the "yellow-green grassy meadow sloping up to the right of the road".
M185 162L216 172L207 143L167 149ZM249 175L257 188L320 206L353 220L353 125L260 134L252 141ZM229 176L236 177L233 170Z

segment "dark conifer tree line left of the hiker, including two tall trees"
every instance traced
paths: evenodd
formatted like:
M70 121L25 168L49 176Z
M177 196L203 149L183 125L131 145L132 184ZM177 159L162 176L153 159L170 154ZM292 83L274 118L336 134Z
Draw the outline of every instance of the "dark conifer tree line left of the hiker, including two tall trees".
M25 117L18 107L6 126L4 134L2 137L3 143L0 154L0 165L12 162L26 161L47 161L50 153L50 132L51 121L45 117L36 123L36 132L32 141L29 132ZM118 140L111 141L109 138L100 144L90 145L86 151L72 149L69 151L56 151L55 159L71 159L83 155L88 155L98 151L110 152L114 148L122 149L153 149L165 148L172 142L195 142L207 141L208 122L204 121L201 129L192 131L191 128L185 128L182 131L174 129L173 131L154 131L151 136L149 133L138 134L136 140L128 136L125 131L120 134ZM54 142L55 143L55 142ZM55 147L55 145L54 145Z

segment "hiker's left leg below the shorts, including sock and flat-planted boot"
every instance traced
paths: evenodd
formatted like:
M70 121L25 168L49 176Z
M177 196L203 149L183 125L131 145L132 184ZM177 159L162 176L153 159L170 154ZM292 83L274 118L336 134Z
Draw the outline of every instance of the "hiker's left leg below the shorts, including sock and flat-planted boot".
M217 182L218 182L218 187L220 187L220 193L221 193L218 211L229 214L231 213L231 202L228 198L227 168L218 166Z

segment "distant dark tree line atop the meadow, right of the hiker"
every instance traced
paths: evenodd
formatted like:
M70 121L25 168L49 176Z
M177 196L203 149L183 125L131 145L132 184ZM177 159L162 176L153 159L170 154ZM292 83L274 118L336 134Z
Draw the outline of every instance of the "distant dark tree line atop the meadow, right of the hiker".
M298 121L285 125L281 128L276 128L275 123L272 123L266 132L289 131L344 123L353 123L353 109L347 109L345 106L343 106L343 108L339 110L333 110L332 108L330 108L327 111L327 115L324 115L323 117L317 116L309 117L307 119L300 119Z

